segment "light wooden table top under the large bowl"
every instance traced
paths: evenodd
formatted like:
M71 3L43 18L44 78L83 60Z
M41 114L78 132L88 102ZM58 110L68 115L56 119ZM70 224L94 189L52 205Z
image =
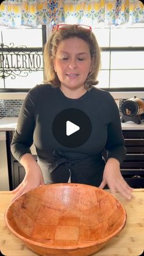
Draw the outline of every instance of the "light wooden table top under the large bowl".
M93 256L139 256L144 250L144 189L134 189L134 198L117 198L126 208L127 223L121 233ZM5 227L4 213L13 198L10 191L0 192L0 250L5 256L35 256L23 241L12 235Z

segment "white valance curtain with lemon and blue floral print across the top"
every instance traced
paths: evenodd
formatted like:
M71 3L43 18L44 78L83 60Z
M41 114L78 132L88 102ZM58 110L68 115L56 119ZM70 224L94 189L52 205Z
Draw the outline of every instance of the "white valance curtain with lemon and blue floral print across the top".
M0 26L57 23L144 23L144 6L138 0L5 0L0 5Z

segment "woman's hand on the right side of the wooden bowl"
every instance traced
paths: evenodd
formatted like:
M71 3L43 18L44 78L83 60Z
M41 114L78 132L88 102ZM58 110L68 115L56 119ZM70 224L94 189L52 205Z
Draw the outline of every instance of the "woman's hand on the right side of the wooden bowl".
M120 163L115 158L109 158L104 168L103 181L99 188L109 186L110 192L115 196L116 191L120 192L125 199L131 199L132 188L126 183L120 172Z

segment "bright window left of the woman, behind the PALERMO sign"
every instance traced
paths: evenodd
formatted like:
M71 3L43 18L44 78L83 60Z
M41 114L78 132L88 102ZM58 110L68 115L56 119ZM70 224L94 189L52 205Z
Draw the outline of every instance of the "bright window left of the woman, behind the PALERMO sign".
M0 27L0 89L29 89L43 81L43 27Z

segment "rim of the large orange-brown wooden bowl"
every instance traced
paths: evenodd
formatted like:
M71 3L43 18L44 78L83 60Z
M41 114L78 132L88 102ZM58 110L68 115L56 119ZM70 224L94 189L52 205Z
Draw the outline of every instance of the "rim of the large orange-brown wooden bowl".
M59 185L68 185L68 186L70 186L70 185L85 185L85 184L80 184L80 183L51 183L51 184L48 184L48 185L38 186L38 188L34 188L31 191L37 190L37 189L39 189L40 187L43 187L43 186L49 186L49 185L51 186L51 185L58 185L58 184ZM90 186L90 185L86 185L86 186ZM92 241L92 242L88 241L87 247L92 247L92 246L96 246L98 244L107 243L107 241L109 241L110 239L112 239L113 237L118 235L118 233L120 233L124 229L124 227L126 225L126 221L127 221L126 209L124 208L123 204L117 199L117 197L113 196L109 191L106 191L104 189L100 189L100 188L95 187L95 186L90 186L90 187L96 188L96 190L101 190L104 193L109 194L109 196L114 197L116 199L117 203L120 203L121 208L123 209L123 213L124 214L123 214L123 224L121 224L119 229L115 230L115 232L113 232L109 236L104 237L103 239L99 239L99 240ZM24 196L25 194L28 194L31 191L28 191L28 192L24 193L23 195L19 196L17 199L19 199L20 197ZM9 221L7 220L7 213L9 211L9 208L12 207L13 203L17 199L15 199L12 203L10 203L9 207L5 211L5 213L4 213L4 220L5 220L5 224L6 224L7 228L10 230L10 232L13 233L13 235L15 235L17 238L22 240L24 244L27 244L27 245L28 244L32 244L32 245L37 246L37 247L43 247L43 248L48 248L48 249L63 249L63 250L67 250L67 249L73 250L73 249L85 248L85 244L82 244L82 245L81 244L77 244L77 245L74 245L74 246L53 246L51 244L44 244L44 243L41 243L41 242L37 242L37 241L31 240L31 238L26 238L25 236L20 235L19 233L16 233L15 230L13 230L12 227L9 225Z

